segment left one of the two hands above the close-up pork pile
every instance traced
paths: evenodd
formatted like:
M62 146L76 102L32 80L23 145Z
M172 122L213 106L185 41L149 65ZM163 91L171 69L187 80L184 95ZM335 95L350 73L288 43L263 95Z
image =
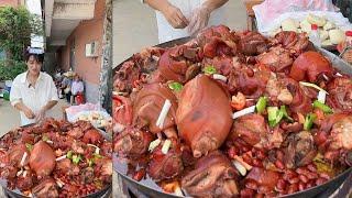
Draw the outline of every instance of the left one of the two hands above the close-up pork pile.
M185 29L188 25L183 12L170 3L162 10L162 13L174 29Z

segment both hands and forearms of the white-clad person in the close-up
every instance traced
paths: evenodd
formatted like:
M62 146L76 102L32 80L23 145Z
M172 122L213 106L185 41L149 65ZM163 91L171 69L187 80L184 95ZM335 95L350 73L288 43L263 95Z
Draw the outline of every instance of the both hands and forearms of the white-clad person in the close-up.
M145 2L161 11L174 29L187 28L188 33L195 35L208 25L211 12L223 6L228 0L207 0L200 7L193 10L189 19L184 15L179 8L168 1L145 0Z

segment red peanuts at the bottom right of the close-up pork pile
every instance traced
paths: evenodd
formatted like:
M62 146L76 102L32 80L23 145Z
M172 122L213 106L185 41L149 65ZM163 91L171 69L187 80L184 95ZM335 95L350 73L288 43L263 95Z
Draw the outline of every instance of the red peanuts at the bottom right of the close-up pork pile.
M255 180L244 180L241 197L277 197L294 194L324 184L331 178L327 173L318 173L314 163L288 169L283 163L284 152L279 148L265 152L249 146L242 140L233 143L233 146L228 150L228 155L230 158L234 158L235 155L241 156L245 163L254 167L264 167L263 163L273 163L273 168L280 174L274 190L260 186Z

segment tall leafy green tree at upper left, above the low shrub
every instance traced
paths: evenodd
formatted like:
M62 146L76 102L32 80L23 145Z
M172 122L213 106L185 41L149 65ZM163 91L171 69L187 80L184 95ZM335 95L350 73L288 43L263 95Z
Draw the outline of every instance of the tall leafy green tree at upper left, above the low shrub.
M31 34L43 35L43 23L24 7L0 8L0 47L9 59L21 61Z

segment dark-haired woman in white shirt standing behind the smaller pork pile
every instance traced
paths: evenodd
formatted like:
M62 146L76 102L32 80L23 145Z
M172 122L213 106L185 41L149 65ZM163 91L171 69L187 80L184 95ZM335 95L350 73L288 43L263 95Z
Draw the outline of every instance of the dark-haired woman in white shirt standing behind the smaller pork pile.
M31 48L25 54L28 70L13 80L10 101L20 111L21 124L38 122L57 103L57 91L53 78L41 72L44 54L35 54Z

